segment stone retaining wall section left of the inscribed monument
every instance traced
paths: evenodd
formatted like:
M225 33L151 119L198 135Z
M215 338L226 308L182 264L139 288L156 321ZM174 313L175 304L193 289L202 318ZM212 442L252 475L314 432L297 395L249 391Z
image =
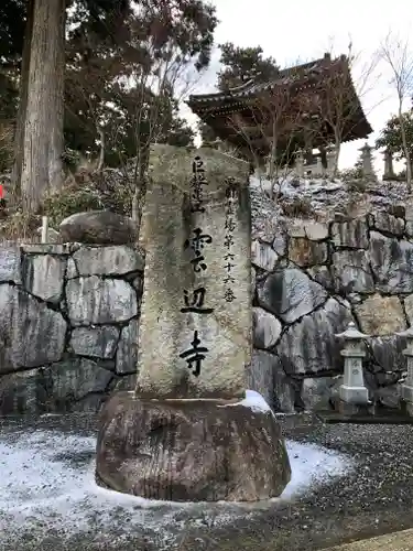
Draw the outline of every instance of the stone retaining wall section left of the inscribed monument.
M127 246L0 248L0 412L97 409L133 386L142 276Z

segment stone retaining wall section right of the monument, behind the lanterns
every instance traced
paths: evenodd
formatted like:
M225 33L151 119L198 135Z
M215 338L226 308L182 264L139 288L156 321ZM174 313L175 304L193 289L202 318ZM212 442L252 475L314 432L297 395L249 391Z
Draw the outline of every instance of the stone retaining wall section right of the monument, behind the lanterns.
M254 346L250 386L275 409L328 407L340 383L350 321L370 335L365 379L372 398L396 407L413 322L413 224L404 208L330 223L283 219L252 245Z

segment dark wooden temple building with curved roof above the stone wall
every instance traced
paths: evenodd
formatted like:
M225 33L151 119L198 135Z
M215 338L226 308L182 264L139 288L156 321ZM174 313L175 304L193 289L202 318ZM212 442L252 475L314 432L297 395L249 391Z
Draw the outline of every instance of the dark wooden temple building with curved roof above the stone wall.
M280 166L327 170L337 166L335 147L372 132L346 55L280 69L271 82L256 75L187 104L219 140L259 164L270 158Z

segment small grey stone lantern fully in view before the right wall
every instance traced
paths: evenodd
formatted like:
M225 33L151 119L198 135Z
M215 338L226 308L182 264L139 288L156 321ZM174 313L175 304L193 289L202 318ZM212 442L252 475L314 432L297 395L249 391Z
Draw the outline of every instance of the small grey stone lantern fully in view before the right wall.
M345 341L345 347L340 353L345 358L345 370L344 382L338 389L339 397L346 403L368 406L369 391L365 387L362 375L362 358L366 356L363 339L368 335L360 333L355 323L350 322L344 333L335 336Z

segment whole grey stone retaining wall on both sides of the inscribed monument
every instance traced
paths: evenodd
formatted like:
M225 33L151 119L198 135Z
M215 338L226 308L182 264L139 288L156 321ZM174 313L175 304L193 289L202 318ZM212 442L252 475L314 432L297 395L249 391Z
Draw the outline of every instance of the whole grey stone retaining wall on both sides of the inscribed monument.
M385 207L274 220L253 208L248 386L279 411L328 407L343 372L334 335L352 320L371 335L371 396L395 407L405 371L396 333L413 322L413 217ZM97 409L117 386L133 388L142 277L127 246L0 248L0 412Z

